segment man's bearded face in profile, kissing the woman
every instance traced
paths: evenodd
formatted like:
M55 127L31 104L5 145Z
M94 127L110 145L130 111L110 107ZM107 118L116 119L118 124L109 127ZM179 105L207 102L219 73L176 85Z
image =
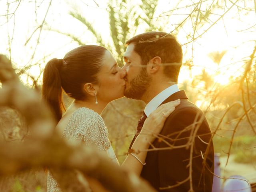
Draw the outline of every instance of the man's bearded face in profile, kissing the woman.
M124 96L141 99L151 82L151 77L148 76L146 65L141 64L140 55L134 51L133 43L127 46L124 62L123 69L127 72L124 78L126 80Z

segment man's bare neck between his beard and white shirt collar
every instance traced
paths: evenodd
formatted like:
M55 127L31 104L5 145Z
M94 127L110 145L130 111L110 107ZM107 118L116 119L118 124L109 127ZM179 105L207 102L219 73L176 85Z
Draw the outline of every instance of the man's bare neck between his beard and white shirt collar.
M160 92L165 90L166 88L176 84L175 82L166 82L159 84L150 84L141 100L148 104L155 96L157 96Z

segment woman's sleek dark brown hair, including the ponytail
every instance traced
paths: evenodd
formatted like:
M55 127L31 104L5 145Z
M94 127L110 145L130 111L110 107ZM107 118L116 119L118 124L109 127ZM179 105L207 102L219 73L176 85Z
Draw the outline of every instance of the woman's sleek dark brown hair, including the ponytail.
M46 64L42 96L58 121L65 110L62 89L76 100L85 100L83 86L88 82L98 83L97 74L106 50L96 45L80 46L68 52L63 59L54 58Z

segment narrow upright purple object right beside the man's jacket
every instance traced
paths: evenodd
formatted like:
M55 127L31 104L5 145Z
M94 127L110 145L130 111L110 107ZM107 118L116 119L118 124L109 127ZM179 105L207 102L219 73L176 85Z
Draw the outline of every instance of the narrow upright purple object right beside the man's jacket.
M220 153L214 153L214 174L220 176ZM212 192L220 192L221 179L213 176Z

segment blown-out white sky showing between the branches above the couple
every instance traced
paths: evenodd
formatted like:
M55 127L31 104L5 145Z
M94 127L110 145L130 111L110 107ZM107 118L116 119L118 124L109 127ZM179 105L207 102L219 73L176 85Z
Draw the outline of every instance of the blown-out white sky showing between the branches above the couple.
M99 1L100 4L96 5L92 0L54 0L46 16L46 24L44 24L44 28L40 34L39 44L36 46L40 33L40 30L36 30L36 28L42 24L49 2L49 0L37 2L37 6L40 6L35 12L34 3L22 1L15 12L15 16L9 17L7 23L7 17L4 16L6 14L7 4L5 1L0 1L0 35L2 37L0 53L6 54L9 57L11 54L12 62L17 64L18 68L37 64L28 68L26 71L26 74L34 77L40 75L40 70L42 71L48 60L54 57L63 58L66 52L78 46L69 37L51 30L58 30L77 36L85 44L97 44L92 33L81 22L69 15L70 10L76 9L82 13L93 24L98 34L102 35L103 41L111 44L106 1ZM188 17L188 14L193 9L193 7L183 8L180 11L177 10L175 12L176 14L168 16L168 11L175 9L174 6L178 2L177 0L159 0L153 19L156 20L156 24L164 24L166 32L172 32L177 24ZM141 1L134 1L134 4L136 3L139 6ZM187 3L192 4L190 1L180 1L179 7L184 7L188 5ZM13 12L17 5L10 4L9 13ZM204 6L207 5L204 4ZM254 7L254 2L253 0L246 1L246 4L241 2L241 6ZM206 10L206 8L201 7L201 10ZM209 22L215 22L220 17L219 15L223 14L227 9L213 9L213 14L209 17ZM181 14L182 11L185 11L186 14ZM236 8L231 9L224 18L220 19L202 37L194 41L192 55L192 43L186 43L190 41L193 35L193 26L191 22L184 23L184 26L178 31L176 36L178 41L183 45L183 62L187 63L189 61L190 68L188 66L182 67L179 84L182 85L185 80L188 82L191 81L194 76L201 74L203 69L212 75L214 81L220 85L228 84L230 78L240 76L243 72L241 67L245 63L244 60L248 59L254 48L255 42L253 40L256 37L255 28L246 31L243 30L252 27L254 24L255 12L251 11L247 12L247 14L241 13L238 15ZM202 34L207 28L208 26L205 28L202 24L197 26L194 37ZM36 32L33 34L35 30ZM136 30L136 34L144 32L144 30L145 26L142 24ZM133 34L129 35L130 37L133 36ZM30 37L31 39L26 44L26 41ZM8 45L8 38L11 42L10 46ZM9 51L9 48L11 48L11 51ZM35 48L36 51L34 52ZM226 51L226 53L219 63L214 62L209 56L213 52L223 51ZM33 54L34 57L31 58ZM22 81L31 84L32 80L26 74L21 76ZM40 79L38 80L39 83L41 82ZM200 85L198 87L200 88Z

